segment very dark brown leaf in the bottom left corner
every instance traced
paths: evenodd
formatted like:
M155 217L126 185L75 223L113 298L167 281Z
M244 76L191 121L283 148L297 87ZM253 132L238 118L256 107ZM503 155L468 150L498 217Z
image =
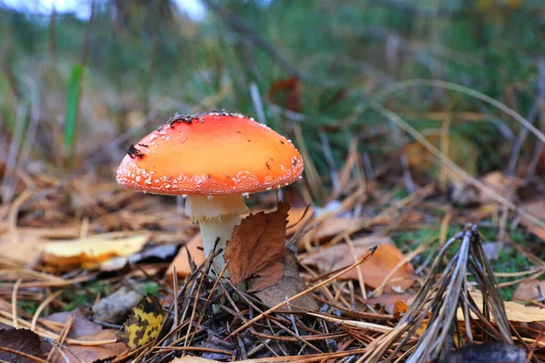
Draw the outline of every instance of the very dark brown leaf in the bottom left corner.
M0 330L0 346L37 358L42 358L43 355L40 337L29 329ZM5 350L0 350L0 359L7 362L33 362L32 359Z

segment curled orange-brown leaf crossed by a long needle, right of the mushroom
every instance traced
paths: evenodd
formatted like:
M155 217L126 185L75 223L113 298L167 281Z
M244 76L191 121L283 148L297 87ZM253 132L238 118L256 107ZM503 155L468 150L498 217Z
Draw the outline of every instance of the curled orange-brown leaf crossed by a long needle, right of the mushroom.
M339 243L332 247L317 250L305 257L301 262L305 265L314 265L320 272L326 273L352 265L355 260L367 253L372 245L376 244L379 248L374 252L371 259L341 277L341 279L345 280L358 280L357 270L361 269L365 284L374 289L379 287L391 270L403 260L403 254L395 247L389 237L364 237L353 240L353 244L355 256L352 254L350 246L346 243ZM384 292L392 293L399 292L399 289L409 289L414 282L413 274L414 269L411 263L405 263L392 275L384 288Z

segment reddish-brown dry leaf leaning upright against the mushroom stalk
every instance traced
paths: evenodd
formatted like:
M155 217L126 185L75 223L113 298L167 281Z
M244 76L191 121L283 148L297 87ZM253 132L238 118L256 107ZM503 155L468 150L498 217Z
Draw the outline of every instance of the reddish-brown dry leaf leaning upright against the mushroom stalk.
M223 259L236 286L251 276L257 277L249 291L259 291L282 279L282 251L290 204L278 203L278 210L259 212L244 218L233 230Z

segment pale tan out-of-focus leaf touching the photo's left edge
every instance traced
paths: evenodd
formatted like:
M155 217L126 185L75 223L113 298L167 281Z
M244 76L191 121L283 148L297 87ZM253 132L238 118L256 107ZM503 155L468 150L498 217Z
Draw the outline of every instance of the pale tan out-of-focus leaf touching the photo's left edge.
M40 246L45 244L39 235L21 231L9 231L0 236L2 258L32 269L42 256Z

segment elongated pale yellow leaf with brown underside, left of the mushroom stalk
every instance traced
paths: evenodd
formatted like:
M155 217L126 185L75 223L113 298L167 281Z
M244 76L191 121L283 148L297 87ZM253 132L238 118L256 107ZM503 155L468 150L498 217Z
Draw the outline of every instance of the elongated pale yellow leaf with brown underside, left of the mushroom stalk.
M105 233L82 240L50 242L42 247L43 259L60 270L93 269L105 260L138 252L147 240L148 237L142 234L127 237L120 233Z

